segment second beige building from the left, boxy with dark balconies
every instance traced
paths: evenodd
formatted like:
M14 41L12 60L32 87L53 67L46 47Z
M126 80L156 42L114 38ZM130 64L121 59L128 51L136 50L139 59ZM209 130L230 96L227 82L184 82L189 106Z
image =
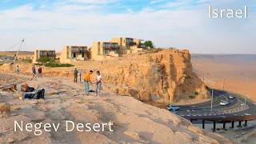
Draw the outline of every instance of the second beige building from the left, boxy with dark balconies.
M87 46L64 46L59 59L61 63L86 60L90 58L90 51Z

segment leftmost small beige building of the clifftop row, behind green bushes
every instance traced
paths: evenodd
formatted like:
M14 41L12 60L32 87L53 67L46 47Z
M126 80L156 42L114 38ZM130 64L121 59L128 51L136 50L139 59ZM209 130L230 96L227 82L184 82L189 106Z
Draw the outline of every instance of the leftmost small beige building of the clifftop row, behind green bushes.
M36 62L38 58L47 57L52 60L56 58L55 50L34 50L33 62Z

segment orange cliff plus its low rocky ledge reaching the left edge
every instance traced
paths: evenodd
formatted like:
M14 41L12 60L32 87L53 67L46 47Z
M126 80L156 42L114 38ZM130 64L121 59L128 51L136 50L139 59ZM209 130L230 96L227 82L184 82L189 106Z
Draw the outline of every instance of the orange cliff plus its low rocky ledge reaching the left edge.
M22 73L31 74L28 64L18 64ZM78 64L77 64L78 65ZM78 70L100 70L104 84L121 95L130 95L144 102L163 98L178 102L182 98L209 98L203 82L193 72L188 50L162 50L154 54L126 55L107 62L87 61ZM14 66L1 66L1 71L14 71ZM74 68L46 68L43 75L73 77ZM94 79L94 76L93 76Z

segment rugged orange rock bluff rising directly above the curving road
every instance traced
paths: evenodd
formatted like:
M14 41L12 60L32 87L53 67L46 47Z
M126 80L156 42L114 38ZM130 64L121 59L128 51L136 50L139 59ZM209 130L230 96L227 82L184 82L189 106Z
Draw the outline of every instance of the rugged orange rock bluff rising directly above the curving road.
M181 98L208 98L210 95L193 72L188 50L163 50L122 61L128 63L103 70L105 82L150 91L152 96L170 102Z

